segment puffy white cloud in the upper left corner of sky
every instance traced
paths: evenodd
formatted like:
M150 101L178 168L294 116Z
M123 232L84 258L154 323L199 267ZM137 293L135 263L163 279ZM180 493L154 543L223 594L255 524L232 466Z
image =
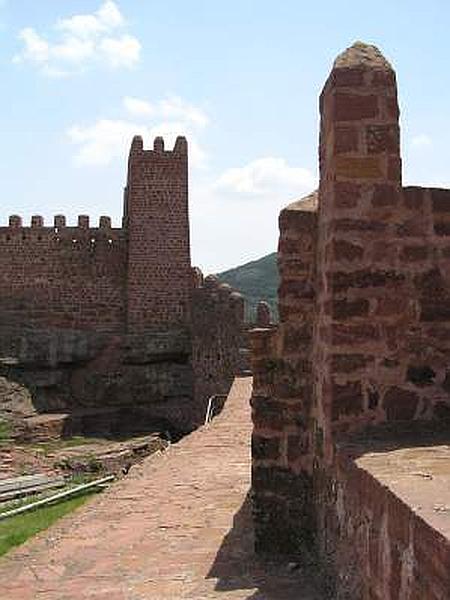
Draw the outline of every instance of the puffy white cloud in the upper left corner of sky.
M141 44L125 27L118 6L107 0L92 14L60 19L54 25L55 41L25 27L19 32L22 50L13 61L33 64L48 76L69 75L92 65L131 68L139 61Z

